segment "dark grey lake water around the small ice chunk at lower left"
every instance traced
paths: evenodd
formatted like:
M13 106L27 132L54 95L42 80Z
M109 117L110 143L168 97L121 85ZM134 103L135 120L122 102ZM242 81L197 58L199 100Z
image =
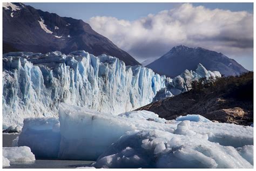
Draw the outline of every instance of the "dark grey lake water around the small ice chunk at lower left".
M11 147L12 140L18 137L17 133L3 133L3 147ZM6 168L76 168L85 167L93 161L82 160L36 160L32 163L17 163Z

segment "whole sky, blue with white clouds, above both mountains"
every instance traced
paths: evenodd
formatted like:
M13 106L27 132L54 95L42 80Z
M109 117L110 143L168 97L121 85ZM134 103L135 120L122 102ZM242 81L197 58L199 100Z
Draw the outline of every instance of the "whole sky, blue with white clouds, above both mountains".
M25 3L83 19L139 62L173 46L221 52L253 70L253 3Z

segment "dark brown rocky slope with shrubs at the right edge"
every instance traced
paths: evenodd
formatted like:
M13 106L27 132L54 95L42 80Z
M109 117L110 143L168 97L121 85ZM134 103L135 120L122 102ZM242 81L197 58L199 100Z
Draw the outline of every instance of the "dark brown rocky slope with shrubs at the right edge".
M212 86L192 89L137 110L157 113L167 120L197 114L210 120L239 125L253 123L253 72L221 77Z

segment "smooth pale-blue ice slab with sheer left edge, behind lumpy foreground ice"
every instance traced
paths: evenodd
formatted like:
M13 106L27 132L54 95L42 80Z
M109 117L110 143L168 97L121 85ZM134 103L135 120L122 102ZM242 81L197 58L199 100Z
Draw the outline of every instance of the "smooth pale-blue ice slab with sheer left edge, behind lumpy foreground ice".
M159 129L173 132L175 127L146 119L93 112L63 103L59 105L59 122L62 138L58 157L69 160L96 160L127 131Z

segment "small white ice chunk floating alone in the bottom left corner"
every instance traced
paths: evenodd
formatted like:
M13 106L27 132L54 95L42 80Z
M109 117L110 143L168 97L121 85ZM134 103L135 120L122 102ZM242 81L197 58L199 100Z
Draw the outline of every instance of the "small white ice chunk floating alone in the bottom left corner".
M3 147L3 158L10 161L10 165L14 163L30 163L35 161L35 155L29 147ZM8 161L5 161L8 163Z

